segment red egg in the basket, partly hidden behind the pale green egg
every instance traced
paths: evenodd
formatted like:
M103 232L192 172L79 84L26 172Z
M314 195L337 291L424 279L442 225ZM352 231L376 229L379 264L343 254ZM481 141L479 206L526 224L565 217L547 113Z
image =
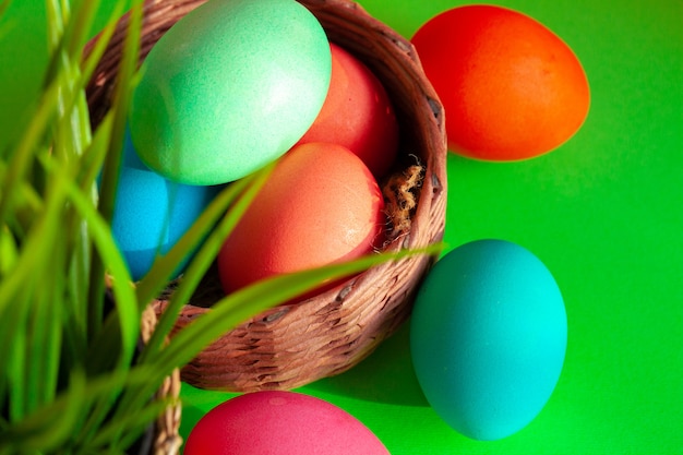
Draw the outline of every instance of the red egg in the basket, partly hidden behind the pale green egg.
M344 145L376 178L386 173L398 148L398 122L380 80L344 48L331 44L332 79L323 107L299 143Z

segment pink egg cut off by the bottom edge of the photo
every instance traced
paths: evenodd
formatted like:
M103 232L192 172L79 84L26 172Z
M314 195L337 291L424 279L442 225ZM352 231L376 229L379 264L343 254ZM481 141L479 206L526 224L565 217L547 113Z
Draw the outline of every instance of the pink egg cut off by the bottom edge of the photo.
M295 392L239 395L214 407L188 436L185 455L388 455L362 422Z

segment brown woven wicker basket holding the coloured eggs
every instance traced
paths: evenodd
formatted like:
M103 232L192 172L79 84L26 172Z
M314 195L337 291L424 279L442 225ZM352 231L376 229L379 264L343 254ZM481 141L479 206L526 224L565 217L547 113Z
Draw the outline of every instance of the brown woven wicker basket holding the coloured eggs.
M145 5L142 58L180 17L205 0L155 0ZM402 139L393 178L383 183L397 251L426 247L443 236L446 205L444 112L409 41L348 0L300 0L331 41L363 61L380 79L396 109ZM88 88L93 119L106 111L121 55L125 19ZM408 318L417 286L435 258L386 263L335 289L274 308L226 333L181 371L203 388L251 392L293 388L348 370ZM215 271L183 308L175 330L211 311L221 297ZM160 313L166 300L153 303Z

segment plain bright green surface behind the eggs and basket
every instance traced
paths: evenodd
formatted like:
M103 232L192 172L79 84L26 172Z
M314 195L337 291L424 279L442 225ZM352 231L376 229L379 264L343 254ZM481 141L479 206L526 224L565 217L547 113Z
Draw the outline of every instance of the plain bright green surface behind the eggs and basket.
M360 3L406 37L464 4ZM448 157L448 249L519 243L562 289L568 347L550 402L504 440L457 434L419 390L407 326L351 371L300 391L355 415L393 455L683 454L683 2L494 3L560 35L591 88L586 123L551 154L514 164ZM0 21L0 146L45 68L43 11L41 0L14 0ZM183 386L183 435L230 396Z

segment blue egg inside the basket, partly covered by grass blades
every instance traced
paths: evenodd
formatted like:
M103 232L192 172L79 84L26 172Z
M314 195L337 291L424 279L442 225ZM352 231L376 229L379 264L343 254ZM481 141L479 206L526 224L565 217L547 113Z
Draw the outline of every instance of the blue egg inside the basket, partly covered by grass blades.
M158 255L180 240L220 187L187 185L165 179L142 164L130 139L124 142L121 163L111 229L132 278L139 280Z

